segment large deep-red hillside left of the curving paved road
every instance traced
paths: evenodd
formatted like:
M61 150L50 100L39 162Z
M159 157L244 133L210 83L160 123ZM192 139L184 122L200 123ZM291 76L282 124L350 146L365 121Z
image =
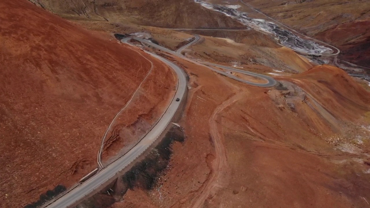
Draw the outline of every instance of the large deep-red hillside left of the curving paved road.
M26 0L1 1L0 10L0 207L20 208L97 168L101 137L139 84L118 130L150 127L176 82L143 51Z

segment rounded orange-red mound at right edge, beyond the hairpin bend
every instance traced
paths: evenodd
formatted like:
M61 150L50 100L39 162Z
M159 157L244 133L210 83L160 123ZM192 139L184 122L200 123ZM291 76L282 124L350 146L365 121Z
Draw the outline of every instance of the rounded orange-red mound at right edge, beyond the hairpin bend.
M323 65L292 76L337 118L353 120L370 110L370 93L340 68ZM303 84L304 83L304 84Z

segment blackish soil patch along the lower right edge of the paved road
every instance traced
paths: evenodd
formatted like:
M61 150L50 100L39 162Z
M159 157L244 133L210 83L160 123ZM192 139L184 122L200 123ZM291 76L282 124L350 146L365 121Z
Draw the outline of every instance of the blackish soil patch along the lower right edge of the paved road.
M183 130L173 125L161 142L144 160L138 162L114 183L102 189L110 189L110 194L95 194L77 205L75 208L107 208L122 198L128 189L141 188L149 191L155 187L157 180L168 167L172 155L172 144L184 142Z

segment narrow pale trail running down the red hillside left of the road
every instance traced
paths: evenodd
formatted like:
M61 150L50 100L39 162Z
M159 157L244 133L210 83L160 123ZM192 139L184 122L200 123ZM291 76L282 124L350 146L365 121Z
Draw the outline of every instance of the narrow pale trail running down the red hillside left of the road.
M131 48L130 48L131 49ZM133 49L131 49L132 51L135 51ZM101 138L101 143L100 143L100 148L99 148L99 151L98 151L98 165L101 168L104 168L102 162L101 162L101 154L103 152L103 148L104 148L104 142L105 142L105 138L107 137L107 134L109 132L109 130L111 129L113 123L115 122L115 120L118 118L118 116L122 113L122 111L124 111L126 109L126 107L131 103L132 99L135 97L137 91L139 90L139 88L141 87L142 83L144 83L145 80L147 80L149 74L151 73L151 71L153 70L153 63L148 59L146 58L145 56L143 56L141 53L139 53L138 51L135 51L136 53L138 53L140 56L142 56L143 58L145 58L146 60L148 60L150 62L150 70L148 71L147 75L144 77L144 79L141 81L141 83L139 84L138 88L135 90L134 93L132 93L132 96L130 98L130 100L127 101L127 103L125 104L124 107L121 108L120 111L118 111L118 113L114 116L113 120L111 121L111 123L108 125L107 127L107 130L105 130L104 134L103 134L103 137Z

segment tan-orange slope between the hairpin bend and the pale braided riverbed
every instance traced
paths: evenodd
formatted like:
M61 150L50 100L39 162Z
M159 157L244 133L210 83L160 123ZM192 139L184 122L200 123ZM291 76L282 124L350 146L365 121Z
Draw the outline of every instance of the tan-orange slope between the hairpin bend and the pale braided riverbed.
M185 50L188 56L229 66L243 66L257 73L273 71L297 73L313 66L294 51L281 47L257 31L243 31L240 35L236 35L235 32L201 34L208 37L202 36L198 44Z

